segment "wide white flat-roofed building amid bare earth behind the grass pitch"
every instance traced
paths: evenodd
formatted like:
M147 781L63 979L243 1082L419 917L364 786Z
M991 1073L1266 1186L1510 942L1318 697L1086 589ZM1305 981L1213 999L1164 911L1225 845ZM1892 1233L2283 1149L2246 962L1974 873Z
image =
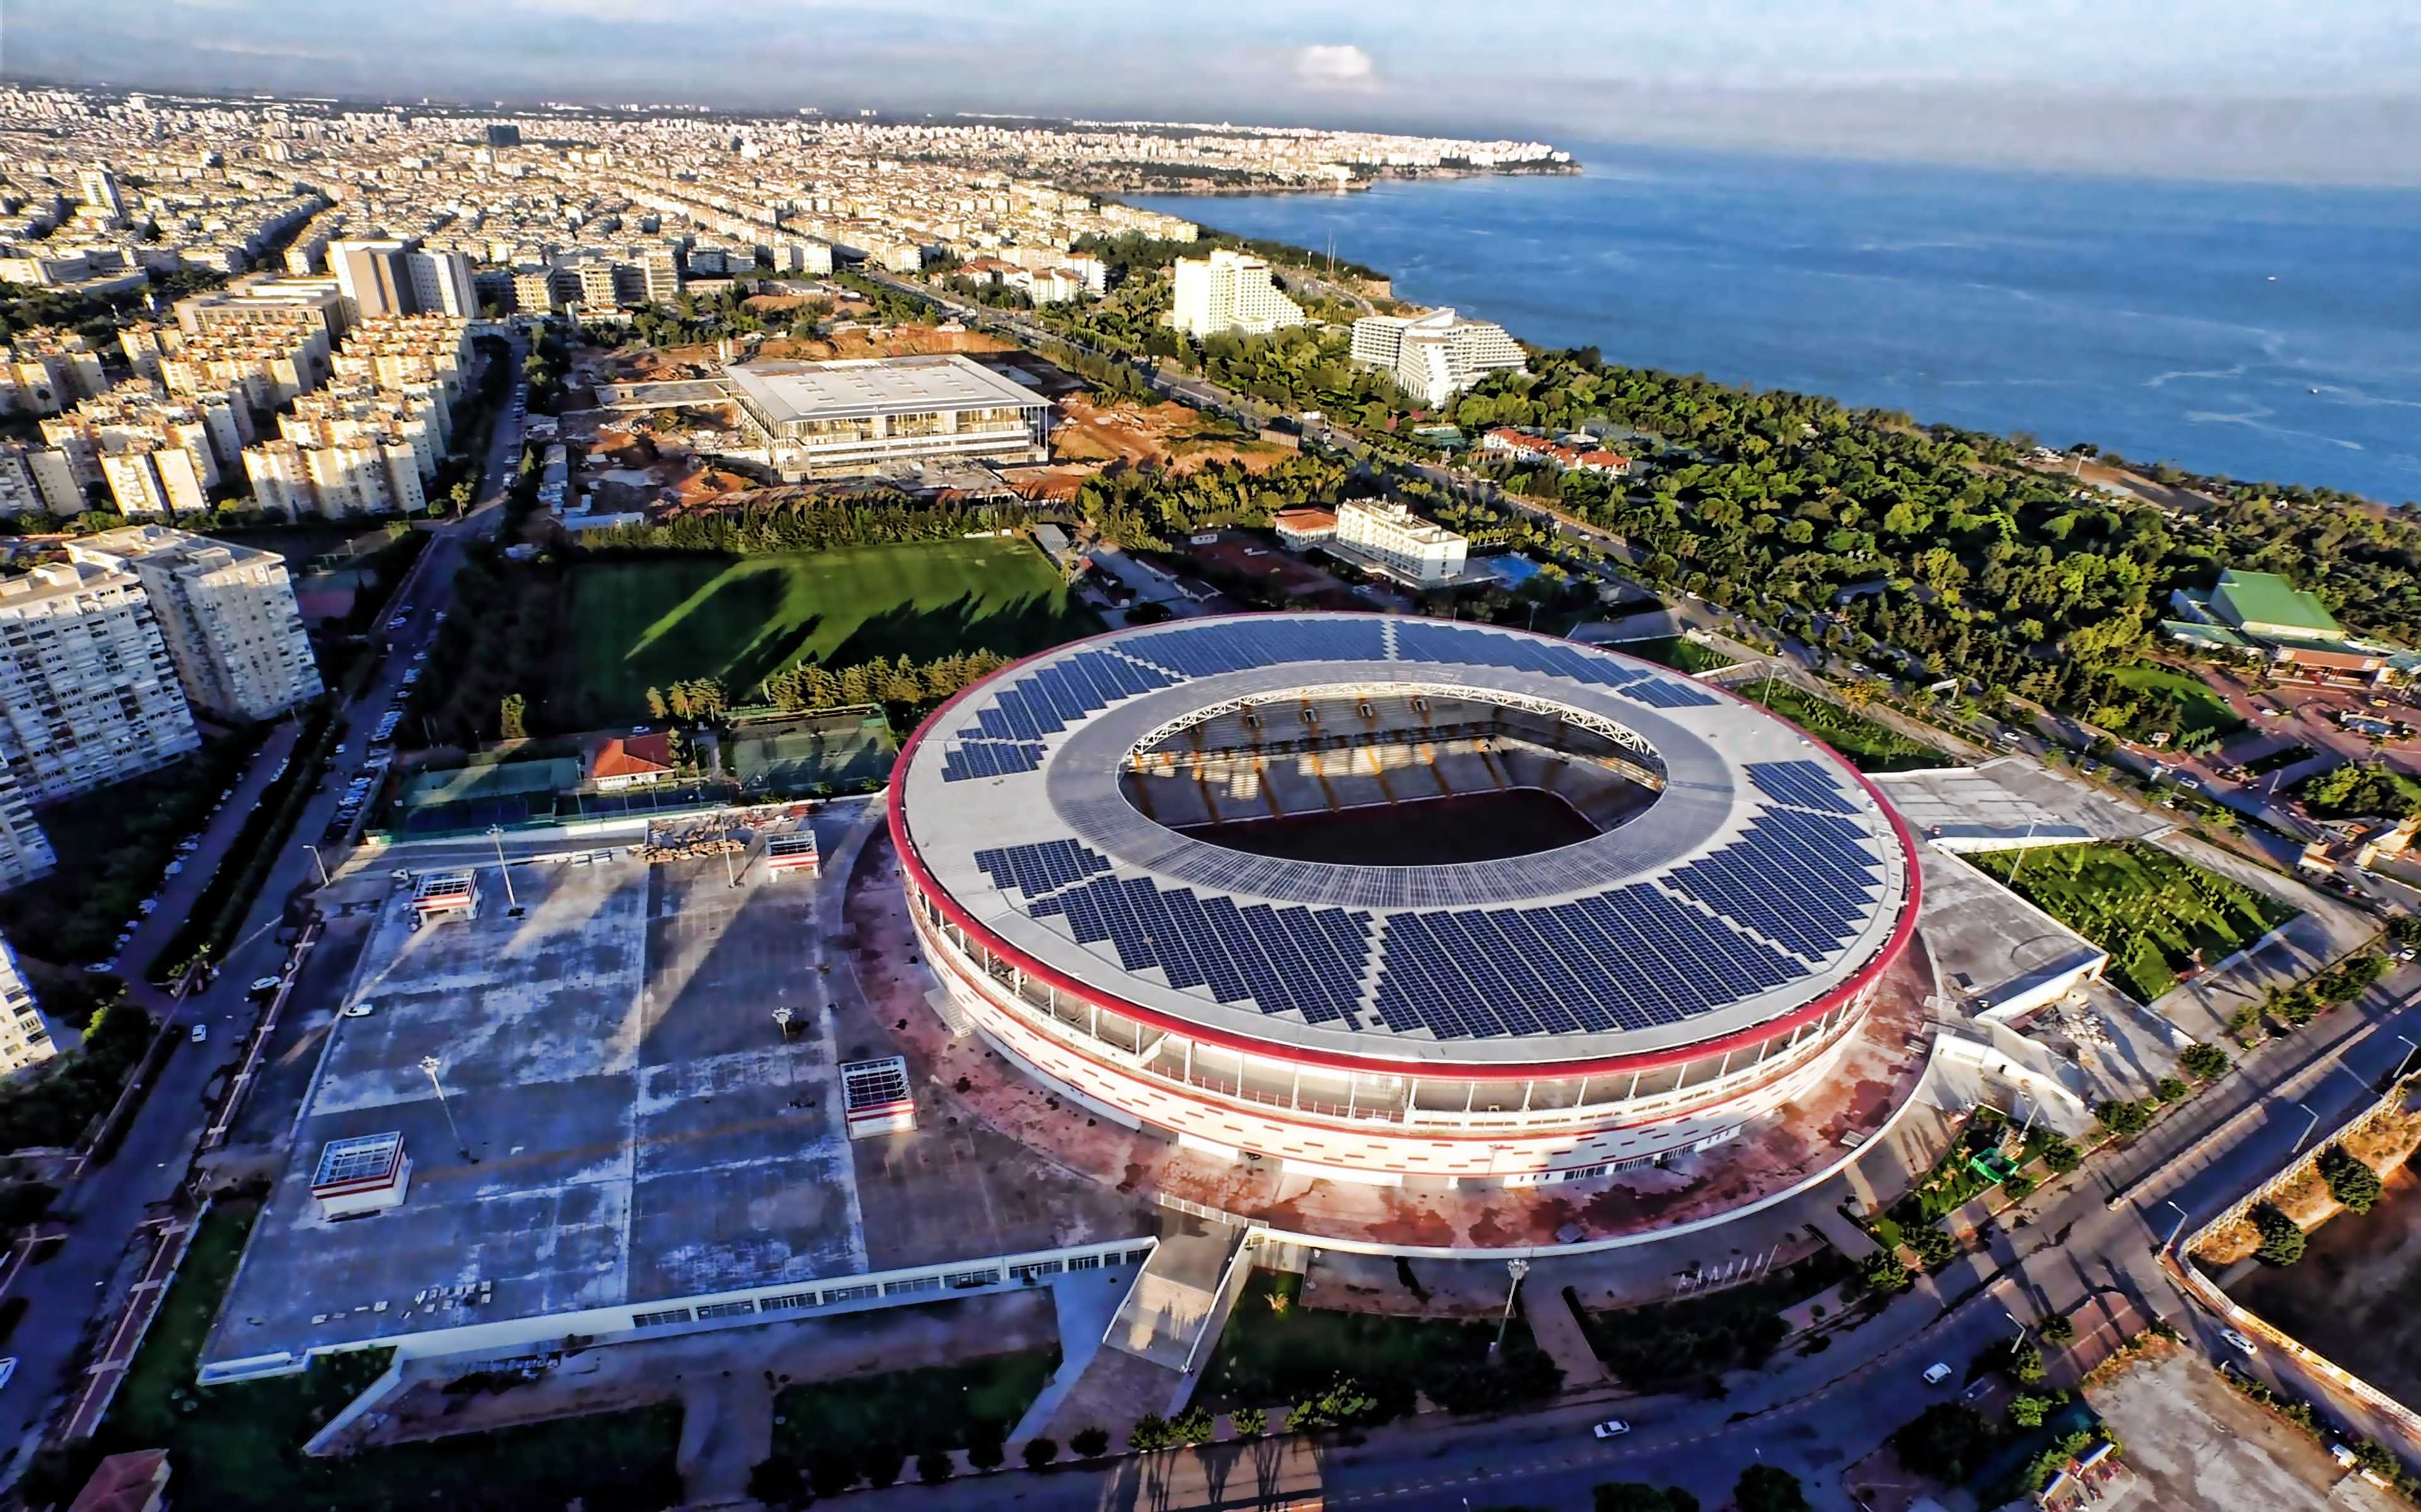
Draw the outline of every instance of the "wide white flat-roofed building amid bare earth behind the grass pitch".
M889 462L1043 462L1051 402L956 353L724 368L741 426L784 479Z

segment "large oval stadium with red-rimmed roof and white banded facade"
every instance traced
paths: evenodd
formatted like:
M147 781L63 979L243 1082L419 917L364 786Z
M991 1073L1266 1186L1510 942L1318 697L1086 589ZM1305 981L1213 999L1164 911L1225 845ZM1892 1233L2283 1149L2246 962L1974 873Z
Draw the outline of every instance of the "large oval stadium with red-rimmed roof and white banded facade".
M1530 1185L1816 1091L1908 827L1765 709L1387 614L1123 629L935 711L889 798L937 1011L1225 1161Z

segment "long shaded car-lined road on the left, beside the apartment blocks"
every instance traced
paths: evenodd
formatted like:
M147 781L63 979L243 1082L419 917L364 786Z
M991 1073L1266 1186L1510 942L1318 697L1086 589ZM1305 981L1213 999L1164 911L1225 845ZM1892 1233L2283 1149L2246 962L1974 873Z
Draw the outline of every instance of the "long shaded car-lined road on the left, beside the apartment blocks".
M521 382L521 351L516 341L511 358L516 399L525 392ZM68 1241L51 1260L19 1270L10 1287L29 1306L24 1321L7 1340L7 1347L17 1357L17 1374L7 1386L7 1403L15 1413L5 1418L0 1442L12 1442L12 1449L7 1461L0 1464L0 1485L12 1483L24 1471L44 1425L63 1396L80 1381L68 1369L82 1350L85 1335L97 1318L97 1306L104 1299L116 1302L119 1287L128 1280L121 1272L136 1227L153 1205L174 1198L177 1188L186 1181L194 1149L208 1125L211 1101L218 1086L223 1086L223 1077L232 1072L245 1033L249 1033L259 1016L259 1004L247 997L247 987L252 980L278 975L286 968L288 946L278 939L278 922L283 919L286 902L317 881L307 842L317 839L334 815L344 777L356 772L368 757L370 728L378 723L387 699L402 687L402 675L412 665L412 656L433 634L426 605L445 600L453 571L462 564L462 544L477 535L494 532L501 520L504 491L513 481L513 464L521 448L521 423L511 416L511 409L508 404L508 414L499 416L479 503L436 532L436 539L429 542L429 549L421 552L397 590L395 602L409 600L419 607L402 629L390 634L380 675L344 709L346 733L341 740L346 755L337 760L329 777L320 784L320 793L305 808L286 854L278 856L252 912L245 917L237 943L220 960L213 985L174 1009L172 1031L191 1033L199 1026L208 1040L201 1045L189 1038L177 1040L165 1069L128 1123L116 1159L87 1168L61 1193L53 1212L68 1222ZM128 970L148 960L174 931L211 876L206 859L225 856L225 849L237 830L242 830L245 818L269 786L278 762L291 752L293 740L293 723L281 723L271 731L269 743L245 772L237 793L213 815L203 849L189 859L177 878L169 878L160 898L160 910L143 922L143 929L136 931L136 939L121 956ZM329 856L329 861L334 864L337 856ZM138 987L136 994L138 1002L155 1011L167 1009L167 999L148 987Z

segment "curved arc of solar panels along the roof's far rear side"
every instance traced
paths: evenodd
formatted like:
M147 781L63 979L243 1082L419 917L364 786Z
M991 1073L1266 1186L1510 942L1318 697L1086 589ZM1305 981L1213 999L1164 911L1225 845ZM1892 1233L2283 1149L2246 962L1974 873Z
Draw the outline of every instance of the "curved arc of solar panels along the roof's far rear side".
M1518 668L1574 677L1656 709L1716 702L1714 694L1680 677L1649 668L1624 668L1559 641L1421 619L1271 614L1266 619L1179 627L1119 641L1116 648L1077 651L1012 680L976 709L976 723L951 733L959 745L944 752L942 781L1034 772L1041 764L1041 748L1034 743L1119 699L1169 687L1184 677L1215 677L1302 660ZM988 743L1000 743L1000 750L985 752Z

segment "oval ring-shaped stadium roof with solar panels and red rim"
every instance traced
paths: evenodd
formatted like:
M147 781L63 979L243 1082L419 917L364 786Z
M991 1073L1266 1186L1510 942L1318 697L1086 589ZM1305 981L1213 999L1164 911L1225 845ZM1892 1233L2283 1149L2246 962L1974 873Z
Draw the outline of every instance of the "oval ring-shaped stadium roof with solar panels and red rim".
M1542 854L1332 866L1145 818L1128 752L1240 702L1431 692L1654 750L1666 789ZM1027 970L1278 1057L1477 1074L1668 1062L1808 1018L1915 924L1905 825L1847 762L1729 692L1552 636L1392 614L1181 619L1060 646L910 738L903 864Z

